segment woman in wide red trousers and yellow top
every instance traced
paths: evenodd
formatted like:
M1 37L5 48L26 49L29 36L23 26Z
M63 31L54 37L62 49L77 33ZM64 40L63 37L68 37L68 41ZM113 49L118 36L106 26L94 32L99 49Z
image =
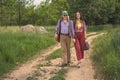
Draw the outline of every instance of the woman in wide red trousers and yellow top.
M84 58L84 44L86 39L86 24L82 18L80 12L75 14L74 18L74 28L75 28L75 50L76 56L78 60L77 67L79 68L79 64L81 63L81 59Z

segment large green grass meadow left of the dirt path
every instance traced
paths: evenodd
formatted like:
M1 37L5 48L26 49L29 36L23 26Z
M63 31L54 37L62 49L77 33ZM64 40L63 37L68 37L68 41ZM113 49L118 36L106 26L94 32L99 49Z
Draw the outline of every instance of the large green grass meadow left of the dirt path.
M15 31L11 31L11 28ZM46 34L22 33L16 27L11 28L4 31L2 27L0 32L0 75L56 44L54 27L49 28L50 31L47 29Z

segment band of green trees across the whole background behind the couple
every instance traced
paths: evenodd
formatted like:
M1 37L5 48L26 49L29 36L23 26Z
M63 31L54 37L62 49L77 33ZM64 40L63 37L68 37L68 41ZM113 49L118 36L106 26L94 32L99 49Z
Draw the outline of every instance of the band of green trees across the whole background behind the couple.
M56 25L63 10L80 11L87 24L120 24L120 0L0 0L0 25Z

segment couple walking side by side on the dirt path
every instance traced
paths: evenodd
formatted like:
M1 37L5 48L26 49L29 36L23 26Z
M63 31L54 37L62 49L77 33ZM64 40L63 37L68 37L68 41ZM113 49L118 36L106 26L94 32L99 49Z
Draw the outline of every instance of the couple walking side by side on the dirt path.
M70 63L70 43L74 43L77 67L80 67L81 59L84 58L84 44L86 39L86 24L80 12L76 12L74 21L69 20L68 12L63 11L61 19L58 21L55 38L60 34L60 44L62 49L62 64L61 67L67 66ZM72 38L72 39L71 39Z

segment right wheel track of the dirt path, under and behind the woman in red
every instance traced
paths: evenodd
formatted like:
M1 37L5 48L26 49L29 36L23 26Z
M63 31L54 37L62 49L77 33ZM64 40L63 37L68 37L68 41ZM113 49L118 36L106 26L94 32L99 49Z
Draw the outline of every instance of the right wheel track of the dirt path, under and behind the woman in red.
M91 42L99 35L90 36L87 38L88 43L90 44L90 47L92 48ZM94 70L92 67L92 63L90 60L91 48L89 51L85 51L84 59L82 60L80 64L80 68L76 68L77 60L76 60L76 54L75 49L72 48L72 64L68 69L68 73L66 74L65 80L95 80L94 79Z

